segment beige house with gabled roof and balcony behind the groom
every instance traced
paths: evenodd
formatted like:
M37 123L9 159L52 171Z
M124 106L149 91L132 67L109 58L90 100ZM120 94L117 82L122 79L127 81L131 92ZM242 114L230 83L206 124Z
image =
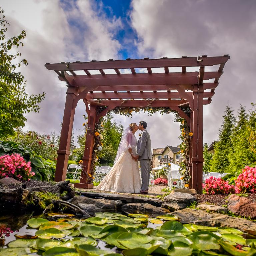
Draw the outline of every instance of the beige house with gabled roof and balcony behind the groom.
M165 148L153 148L152 153L152 168L164 165L167 163L179 164L181 161L179 147L166 146Z

